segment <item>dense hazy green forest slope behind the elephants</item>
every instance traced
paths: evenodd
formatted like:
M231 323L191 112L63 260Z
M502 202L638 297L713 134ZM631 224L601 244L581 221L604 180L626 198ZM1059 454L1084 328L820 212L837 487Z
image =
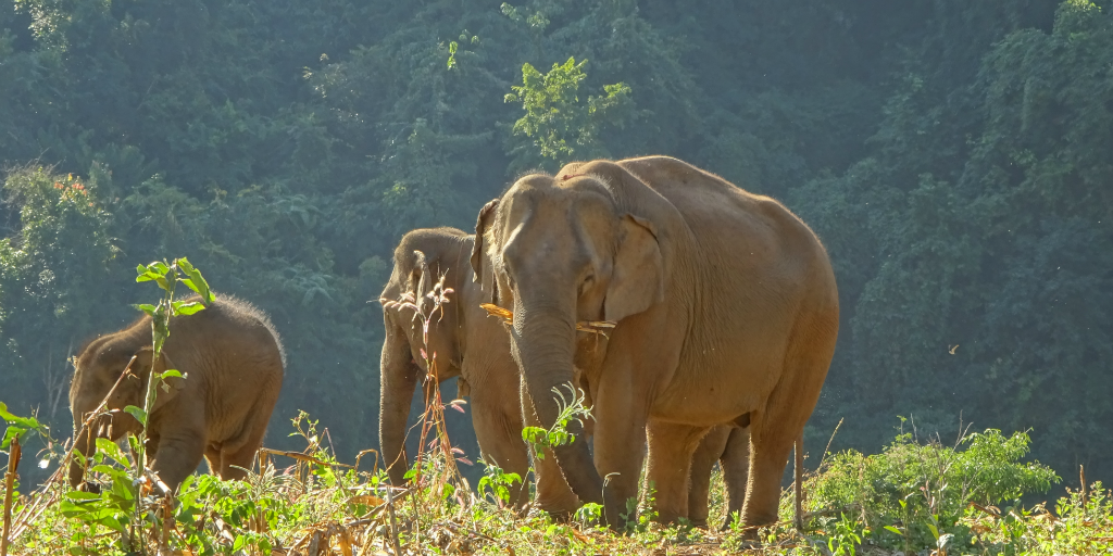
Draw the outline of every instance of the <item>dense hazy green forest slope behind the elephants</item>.
M809 446L973 421L1110 478L1111 9L2 2L0 399L68 436L67 357L138 316L136 265L188 256L284 338L267 444L304 409L342 456L375 447L402 234L472 227L525 170L662 153L827 245L843 322Z

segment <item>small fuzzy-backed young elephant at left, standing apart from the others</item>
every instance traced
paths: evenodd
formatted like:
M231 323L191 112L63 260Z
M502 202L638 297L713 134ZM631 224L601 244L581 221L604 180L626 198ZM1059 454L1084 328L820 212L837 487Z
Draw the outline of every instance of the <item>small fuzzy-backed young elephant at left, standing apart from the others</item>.
M216 295L199 312L175 317L170 332L157 361L151 360L149 316L81 349L70 386L75 446L88 457L97 449L96 438L115 441L138 431L139 421L124 411L81 427L106 396L107 409L142 407L151 369L177 369L181 377L167 378L157 388L150 410L151 468L171 490L203 457L220 478L243 478L237 467L250 468L282 389L286 356L278 332L263 311L226 295ZM83 461L75 458L69 480L73 487L83 483Z

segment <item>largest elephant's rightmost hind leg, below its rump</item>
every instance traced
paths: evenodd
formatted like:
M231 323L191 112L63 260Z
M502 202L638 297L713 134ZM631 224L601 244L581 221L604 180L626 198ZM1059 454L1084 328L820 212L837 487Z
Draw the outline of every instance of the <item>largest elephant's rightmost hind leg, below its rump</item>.
M781 378L761 411L751 413L750 474L742 506L746 526L777 522L780 480L792 445L819 400L838 321L801 316L792 328Z

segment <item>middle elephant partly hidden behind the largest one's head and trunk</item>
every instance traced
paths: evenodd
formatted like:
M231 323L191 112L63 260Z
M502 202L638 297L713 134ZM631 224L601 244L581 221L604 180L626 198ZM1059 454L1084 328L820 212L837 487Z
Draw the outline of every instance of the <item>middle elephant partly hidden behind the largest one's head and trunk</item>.
M471 398L472 426L483 457L522 477L512 502L524 505L530 502L524 485L530 457L522 440L518 364L510 356L505 329L480 307L491 301L491 290L484 291L471 279L467 259L472 241L470 234L455 228L417 229L403 236L394 250L394 270L381 296L386 337L380 373L380 446L391 480L402 485L408 469L405 436L410 401L429 373L421 355L425 349L435 354L437 381L460 377L460 396ZM416 294L427 314L432 304L425 295L442 276L444 287L453 292L443 312L433 316L426 346L413 308L388 301ZM552 457L534 461L534 474L538 507L565 514L579 506Z

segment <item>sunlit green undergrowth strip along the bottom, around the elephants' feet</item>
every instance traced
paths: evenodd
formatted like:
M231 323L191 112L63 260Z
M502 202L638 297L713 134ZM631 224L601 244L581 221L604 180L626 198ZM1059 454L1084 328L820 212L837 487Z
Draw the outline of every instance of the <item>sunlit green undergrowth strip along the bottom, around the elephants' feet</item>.
M33 431L49 440L33 419L3 416L8 441ZM510 507L520 478L494 467L473 489L446 460L462 457L451 449L427 450L410 484L391 489L378 461L368 465L373 451L345 464L322 444L325 431L307 415L293 426L305 440L303 451L264 450L246 480L191 476L169 502L141 485L136 492L132 455L101 440L91 467L100 494L71 490L61 474L38 489L16 484L9 554L159 554L162 545L181 555L349 556L394 554L395 535L405 554L1053 555L1113 548L1113 502L1101 483L1087 493L1067 489L1050 505L1021 504L1022 496L1047 493L1060 481L1050 468L1023 461L1024 433L988 429L953 445L900 434L880 454L826 454L806 478L804 533L791 527L786 489L782 522L770 528L747 532L737 516L722 533L660 525L651 519L650 494L638 525L615 534L599 525L595 507L562 522ZM721 524L727 516L718 473L712 487L710 522Z

